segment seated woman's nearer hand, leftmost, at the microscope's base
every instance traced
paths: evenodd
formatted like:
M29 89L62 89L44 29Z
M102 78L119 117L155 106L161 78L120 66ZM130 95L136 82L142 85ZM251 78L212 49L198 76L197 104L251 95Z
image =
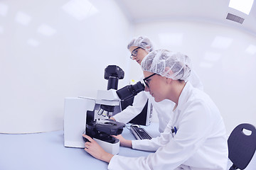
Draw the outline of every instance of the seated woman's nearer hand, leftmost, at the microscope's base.
M100 145L98 145L95 140L92 140L90 136L87 136L85 134L82 134L82 136L90 141L85 142L85 151L87 153L91 154L92 157L110 163L110 160L114 156L113 154L105 152L105 150L102 147L100 147Z

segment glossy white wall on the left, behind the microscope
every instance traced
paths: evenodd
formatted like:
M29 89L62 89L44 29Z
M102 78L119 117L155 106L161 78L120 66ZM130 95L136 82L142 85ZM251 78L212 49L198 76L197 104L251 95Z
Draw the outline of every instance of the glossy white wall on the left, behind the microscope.
M0 2L0 132L63 129L64 98L95 97L97 89L107 89L108 64L128 73L119 86L129 82L132 25L119 6L74 0L73 9L82 14L75 18L64 10L68 3Z

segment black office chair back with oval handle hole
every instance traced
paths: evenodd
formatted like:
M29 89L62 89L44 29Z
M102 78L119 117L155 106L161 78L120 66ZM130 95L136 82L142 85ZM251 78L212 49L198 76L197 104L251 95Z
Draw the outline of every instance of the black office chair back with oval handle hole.
M246 135L242 130L251 131ZM233 163L230 170L245 169L250 163L256 149L256 129L248 123L235 127L228 137L228 158Z

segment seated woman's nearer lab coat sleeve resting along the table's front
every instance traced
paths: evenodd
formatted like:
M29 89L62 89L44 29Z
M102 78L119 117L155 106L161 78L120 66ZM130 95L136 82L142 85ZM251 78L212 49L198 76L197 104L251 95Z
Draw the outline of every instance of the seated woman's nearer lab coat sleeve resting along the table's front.
M202 101L203 102L203 101ZM187 109L186 116L176 125L178 131L164 147L148 157L115 155L108 169L176 169L186 162L206 140L211 127L210 111L201 101Z

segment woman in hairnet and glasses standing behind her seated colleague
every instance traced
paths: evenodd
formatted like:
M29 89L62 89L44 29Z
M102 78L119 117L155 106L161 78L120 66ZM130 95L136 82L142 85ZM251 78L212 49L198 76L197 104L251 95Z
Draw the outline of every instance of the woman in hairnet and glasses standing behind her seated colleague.
M145 36L135 37L129 42L127 45L127 49L131 52L131 59L136 61L138 64L141 64L144 57L149 54L153 49L153 43L149 38ZM142 77L143 79L143 77ZM203 85L198 78L195 72L192 72L191 77L189 78L191 84L203 90ZM142 112L146 101L149 99L150 103L154 107L154 111L156 111L159 118L159 132L164 132L164 128L166 128L167 123L171 118L171 113L174 108L174 103L172 101L164 100L159 103L154 101L154 98L146 91L142 91L137 96L134 96L134 102L132 106L128 106L124 109L124 111L114 115L112 119L117 120L122 123L129 123L134 117L139 115Z

